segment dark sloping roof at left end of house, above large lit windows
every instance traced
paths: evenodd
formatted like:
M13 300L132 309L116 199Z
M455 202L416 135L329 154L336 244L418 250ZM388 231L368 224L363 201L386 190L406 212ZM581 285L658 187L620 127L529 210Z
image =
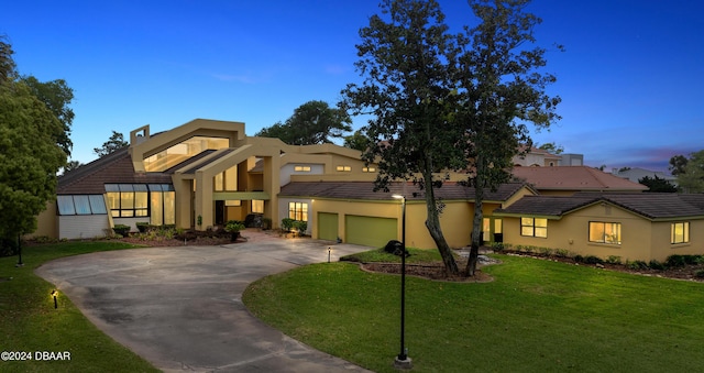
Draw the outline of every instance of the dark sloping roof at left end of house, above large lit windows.
M128 147L123 147L58 177L56 194L106 193L106 184L172 184L170 175L135 173Z

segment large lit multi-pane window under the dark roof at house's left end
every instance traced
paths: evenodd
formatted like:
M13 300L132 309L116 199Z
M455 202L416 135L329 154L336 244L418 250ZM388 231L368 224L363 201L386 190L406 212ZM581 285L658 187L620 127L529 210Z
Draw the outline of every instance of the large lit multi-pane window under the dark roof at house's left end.
M175 191L169 184L106 184L114 218L150 217L155 226L175 223Z

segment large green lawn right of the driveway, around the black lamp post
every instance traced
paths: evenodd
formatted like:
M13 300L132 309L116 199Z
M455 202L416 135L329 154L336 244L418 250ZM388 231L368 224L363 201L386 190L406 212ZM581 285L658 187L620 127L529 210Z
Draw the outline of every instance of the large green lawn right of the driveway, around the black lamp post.
M703 284L497 257L504 263L483 270L491 283L406 278L414 371L662 372L704 365ZM350 263L315 264L253 283L243 300L304 343L373 371L394 371L398 276Z

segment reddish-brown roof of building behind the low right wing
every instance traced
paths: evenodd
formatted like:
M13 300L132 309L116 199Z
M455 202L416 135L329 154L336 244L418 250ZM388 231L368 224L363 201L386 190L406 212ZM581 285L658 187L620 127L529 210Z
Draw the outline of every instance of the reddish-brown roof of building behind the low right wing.
M514 167L516 178L538 190L641 191L645 185L588 166Z

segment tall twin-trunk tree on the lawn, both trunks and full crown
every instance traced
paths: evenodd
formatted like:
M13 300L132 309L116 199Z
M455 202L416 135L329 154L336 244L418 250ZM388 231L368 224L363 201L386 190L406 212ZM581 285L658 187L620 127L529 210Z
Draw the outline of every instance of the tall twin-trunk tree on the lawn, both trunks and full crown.
M484 190L509 180L512 157L530 145L526 123L548 128L559 97L544 88L556 78L540 74L544 50L529 48L540 22L524 13L527 1L470 1L475 28L452 35L435 0L385 0L382 14L360 31L361 85L349 85L344 105L369 113L364 128L378 160L377 188L411 179L425 189L426 227L446 270L459 272L442 234L442 202L435 189L442 171L465 171L475 190L472 251L466 267L476 268ZM440 176L440 177L438 177Z

